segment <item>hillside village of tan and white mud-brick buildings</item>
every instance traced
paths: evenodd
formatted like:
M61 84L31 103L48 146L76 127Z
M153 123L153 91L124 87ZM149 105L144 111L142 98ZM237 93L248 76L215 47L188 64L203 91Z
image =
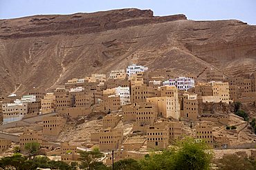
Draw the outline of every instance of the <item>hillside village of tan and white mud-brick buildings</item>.
M8 156L17 146L22 152L37 142L41 154L71 162L79 160L79 151L98 147L101 161L112 164L192 136L216 157L237 153L256 159L253 129L236 114L244 107L249 117L256 116L256 72L241 78L208 68L205 75L205 80L174 77L172 70L131 64L73 78L53 92L35 87L23 96L3 96L0 154Z

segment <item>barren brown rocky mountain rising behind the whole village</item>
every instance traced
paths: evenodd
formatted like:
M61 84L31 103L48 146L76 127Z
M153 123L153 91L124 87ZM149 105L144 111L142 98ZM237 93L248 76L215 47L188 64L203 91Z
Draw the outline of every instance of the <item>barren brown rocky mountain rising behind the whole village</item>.
M129 63L178 76L204 78L207 67L245 76L256 70L256 26L138 9L0 20L0 96L51 90Z

